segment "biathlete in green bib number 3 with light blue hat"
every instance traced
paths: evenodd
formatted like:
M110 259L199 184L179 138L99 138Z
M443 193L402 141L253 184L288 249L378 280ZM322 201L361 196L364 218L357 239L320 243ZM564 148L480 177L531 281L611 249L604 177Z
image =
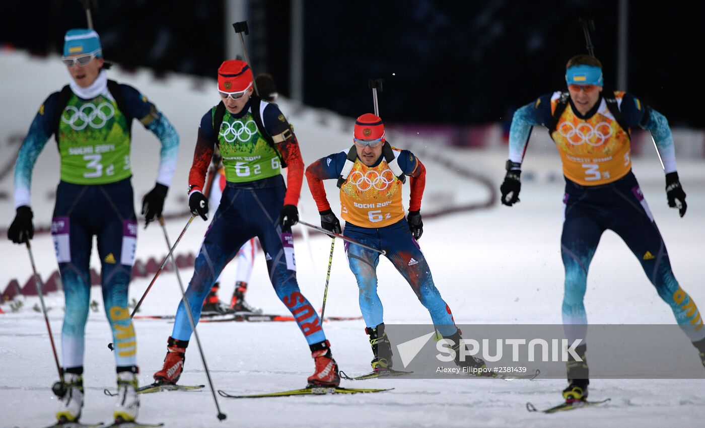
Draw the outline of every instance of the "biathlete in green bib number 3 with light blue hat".
M15 164L17 214L8 238L25 243L34 235L30 187L32 169L51 135L61 156L61 181L51 220L56 258L66 297L61 331L63 391L59 422L76 422L83 406L83 350L90 301L90 256L97 237L102 264L105 312L116 345L118 403L116 420L137 416L137 341L128 308L128 286L137 243L130 183L130 128L137 119L161 141L157 184L142 200L147 222L161 216L176 169L178 134L167 118L134 87L108 80L94 30L66 32L63 63L71 81L44 101L20 147ZM49 177L45 177L49 178ZM51 179L51 178L50 178ZM44 213L40 219L48 221Z

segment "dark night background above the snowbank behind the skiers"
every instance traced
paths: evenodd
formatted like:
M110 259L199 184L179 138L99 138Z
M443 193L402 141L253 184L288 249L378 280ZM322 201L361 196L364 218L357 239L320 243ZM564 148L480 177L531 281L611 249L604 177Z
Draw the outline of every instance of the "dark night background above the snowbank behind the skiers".
M703 18L682 1L630 1L627 90L672 125L704 128L692 102L703 75ZM226 53L222 1L98 1L106 59L215 77ZM250 56L289 92L290 3L248 3ZM565 62L586 53L578 18L606 82L616 80L618 1L305 1L304 102L347 116L371 109L369 78L384 78L381 112L397 123L506 121L539 94L565 87ZM0 44L59 52L85 27L78 1L6 1ZM693 87L690 87L693 85ZM621 89L621 88L618 88ZM697 95L696 95L697 97Z

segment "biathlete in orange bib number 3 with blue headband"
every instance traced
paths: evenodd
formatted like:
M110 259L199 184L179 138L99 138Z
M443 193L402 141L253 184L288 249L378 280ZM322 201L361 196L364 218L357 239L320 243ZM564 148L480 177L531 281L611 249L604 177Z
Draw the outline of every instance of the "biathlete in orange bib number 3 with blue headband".
M509 159L502 203L519 202L521 164L532 126L548 128L563 161L563 236L565 267L563 324L568 340L584 338L587 316L583 298L587 271L600 236L610 229L622 238L670 305L675 319L700 353L705 365L705 328L695 302L678 285L654 216L632 173L630 130L650 130L666 173L670 207L685 214L685 192L675 169L673 137L666 117L625 92L603 91L602 66L593 56L574 56L566 66L568 92L546 94L518 109L509 134ZM585 360L585 345L576 348ZM568 400L587 398L587 362L568 362Z

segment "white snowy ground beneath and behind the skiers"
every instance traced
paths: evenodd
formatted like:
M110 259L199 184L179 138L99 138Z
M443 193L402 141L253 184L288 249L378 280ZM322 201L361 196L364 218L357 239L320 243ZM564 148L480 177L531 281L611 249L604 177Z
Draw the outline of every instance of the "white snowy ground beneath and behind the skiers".
M6 59L0 55L0 65L1 61L19 60L15 56ZM133 80L140 82L144 76ZM174 85L177 88L188 87L180 81L174 82ZM137 86L142 89L149 85L145 81ZM159 85L149 93L157 90ZM4 89L3 93L7 91ZM42 96L37 95L37 99ZM209 99L215 101L212 97ZM173 108L174 103L162 104ZM287 108L294 110L286 102L283 104L283 111L286 112ZM204 105L207 108L208 104ZM36 106L32 104L27 109L34 111ZM200 110L199 106L197 111ZM174 112L174 116L178 114L186 116L185 113ZM298 116L290 116L300 140L306 142L303 152L307 164L348 144L343 135L349 130L343 130L345 123L338 123L340 120L335 116L324 116L317 111L302 111ZM22 119L22 128L29 120L26 117ZM184 133L193 123L195 121L191 120L184 126ZM139 126L135 124L135 130L137 128ZM331 143L327 135L333 135L340 142ZM189 163L193 142L190 137L182 138L180 171L174 186L177 190L169 195L169 209L173 212L183 209L178 201L181 195L178 189L185 183L183 170L188 168L185 165ZM156 152L157 145L154 142L150 144ZM418 142L408 144L412 148L419 147ZM49 142L42 154L47 159L47 168L51 166L51 156L56 153L52 145L54 142ZM6 147L3 146L3 149ZM495 186L503 177L504 152L456 149L443 155L491 178ZM424 196L424 212L486 199L488 191L479 183L460 178L434 161L427 161L426 164L429 184ZM701 274L702 243L705 242L705 228L702 227L705 221L704 162L679 159L678 164L689 203L683 219L679 219L675 210L668 209L666 205L663 173L655 155L647 151L643 159L635 160L634 170L668 245L676 277L700 305L705 305ZM37 180L35 171L33 196L37 196L37 204L44 204L48 207L46 209L51 208L49 202L39 200L44 200L44 195L55 185L57 171L42 170L49 184ZM533 180L529 179L532 175L529 171L534 173ZM558 156L532 155L532 147L529 147L524 176L522 202L515 207L495 205L482 211L424 221L424 236L420 241L422 249L434 272L436 285L452 308L455 321L460 324L560 323L563 267L559 243L563 184ZM1 183L5 189L11 189L11 178L4 178ZM149 187L151 183L135 183L135 188L139 189L136 192L138 195L140 190L144 192ZM329 187L329 195L336 195L333 188ZM301 206L302 218L317 223L316 210L306 188L302 191ZM1 208L3 213L11 213L5 204ZM49 213L40 212L37 222L41 223L42 219L48 222ZM8 219L8 216L4 218ZM172 240L185 221L184 218L168 222ZM179 249L183 252L196 251L205 227L204 222L195 221ZM310 244L314 258L310 257L303 240L296 242L298 278L303 293L315 307L319 307L330 240L313 235ZM37 236L34 247L40 273L47 275L56 269L51 238ZM137 257L164 257L164 247L159 228L150 226L146 231L140 230ZM23 283L30 272L25 252L7 241L0 241L0 255L9 261L0 271L0 284L4 286L11 278L18 278ZM93 266L99 266L97 258ZM388 324L430 321L391 264L381 262L378 273L379 294L385 303ZM183 269L180 274L183 281L188 282L192 270ZM232 292L233 276L234 269L230 267L223 279L223 296ZM148 283L149 279L134 281L130 298L140 298ZM251 283L247 297L250 302L262 307L265 312L286 314L285 307L269 285L261 255L255 262ZM175 275L165 273L155 283L140 314L171 314L175 312L179 299ZM60 293L53 293L46 300L47 305L54 307L49 312L49 319L59 343L63 298ZM92 300L102 301L97 287L92 288ZM25 308L20 312L0 314L0 427L40 427L54 417L56 399L49 387L56 380L56 369L42 315L30 309L35 302L36 298L27 298ZM1 307L9 312L9 305ZM591 264L586 307L589 321L596 324L673 323L673 315L646 280L639 262L611 232L603 236ZM359 314L355 279L347 267L341 243L336 245L326 314ZM135 329L139 343L138 361L142 369L140 383L147 384L152 373L161 367L171 324L137 320ZM369 370L371 351L362 321L327 323L325 329L333 346L333 354L345 372L362 374ZM216 389L234 393L295 389L301 387L312 372L313 363L306 343L294 323L202 323L198 331ZM114 360L106 347L109 341L109 326L104 314L102 311L91 312L86 330L86 398L82 418L85 422L107 422L111 417L114 399L104 396L102 392L104 388L114 387L115 381ZM181 377L183 384L206 383L195 347L195 341L192 341ZM693 353L693 357L697 357L694 348L685 339L682 352ZM610 403L602 408L554 415L530 414L525 409L525 403L531 401L537 407L558 403L560 390L565 386L563 380L374 379L344 381L343 386L395 389L373 395L249 401L219 397L221 409L228 415L228 420L223 423L216 419L209 391L157 393L142 396L140 420L165 422L168 427L694 427L702 424L705 418L701 380L597 379L591 384L591 398L609 397L612 398Z

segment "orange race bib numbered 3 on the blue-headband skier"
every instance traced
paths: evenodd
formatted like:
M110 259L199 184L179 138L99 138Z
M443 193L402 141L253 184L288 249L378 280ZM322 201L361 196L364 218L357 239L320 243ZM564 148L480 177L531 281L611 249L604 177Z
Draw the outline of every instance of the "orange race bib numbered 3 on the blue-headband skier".
M618 105L624 92L615 92ZM551 97L556 110L560 92ZM617 181L632 169L630 137L607 108L604 99L596 114L584 120L575 115L570 103L551 133L560 152L563 174L580 185L601 185Z

